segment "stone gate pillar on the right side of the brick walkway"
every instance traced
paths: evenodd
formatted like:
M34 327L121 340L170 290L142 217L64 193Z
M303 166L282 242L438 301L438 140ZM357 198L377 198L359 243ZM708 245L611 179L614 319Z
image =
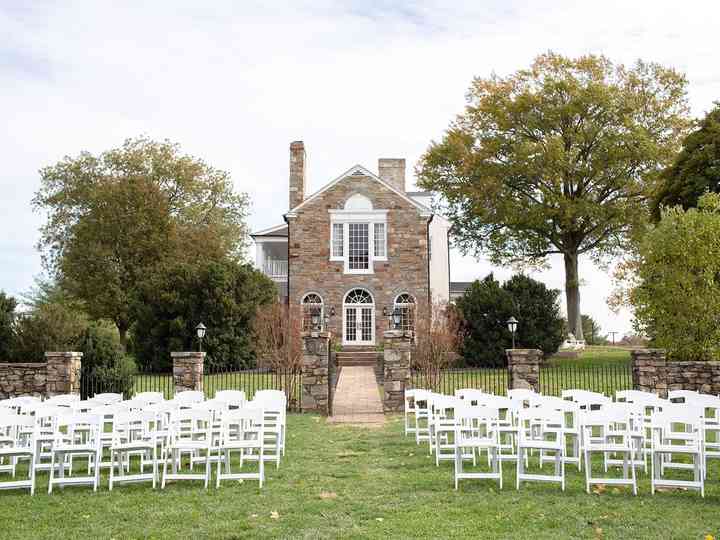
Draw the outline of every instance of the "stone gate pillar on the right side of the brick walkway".
M387 330L383 337L383 410L400 412L404 408L405 388L410 384L413 333Z

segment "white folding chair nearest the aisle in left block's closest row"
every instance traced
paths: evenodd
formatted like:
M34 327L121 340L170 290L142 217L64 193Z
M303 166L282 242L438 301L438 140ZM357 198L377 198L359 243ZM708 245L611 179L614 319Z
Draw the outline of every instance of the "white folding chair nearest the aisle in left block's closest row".
M262 488L265 481L265 459L263 424L265 414L262 409L232 409L222 418L220 431L219 455L215 487L220 487L222 480L258 480ZM239 453L240 470L232 471L232 454ZM255 454L256 452L256 454ZM254 460L248 457L255 456ZM257 472L243 472L245 461L257 461ZM224 467L224 469L223 469Z

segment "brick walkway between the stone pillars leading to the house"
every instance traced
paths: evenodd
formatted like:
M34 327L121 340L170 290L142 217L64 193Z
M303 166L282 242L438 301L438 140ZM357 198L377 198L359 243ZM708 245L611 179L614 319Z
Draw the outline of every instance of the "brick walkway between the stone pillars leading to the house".
M370 366L345 366L340 372L331 423L382 424L385 422L375 372Z

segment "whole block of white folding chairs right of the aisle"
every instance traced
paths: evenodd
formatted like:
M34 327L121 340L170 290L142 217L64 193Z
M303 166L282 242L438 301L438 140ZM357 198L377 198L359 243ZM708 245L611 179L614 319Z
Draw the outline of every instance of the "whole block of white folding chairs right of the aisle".
M648 470L657 487L696 489L704 496L708 460L720 458L720 397L671 391L668 399L635 390L619 391L615 401L586 390L561 397L532 390L508 390L497 396L461 389L448 396L414 389L405 393L405 434L427 443L436 465L455 463L459 480L489 478L502 487L502 463L516 464L516 487L525 481L557 482L565 488L565 465L585 469L586 489L595 484L629 485L637 494L636 468ZM489 472L468 472L487 454ZM528 472L530 455L540 466L554 463L553 474ZM606 476L592 470L600 454ZM687 459L678 461L680 456ZM621 478L608 477L621 466ZM668 478L667 470L690 470L692 479Z

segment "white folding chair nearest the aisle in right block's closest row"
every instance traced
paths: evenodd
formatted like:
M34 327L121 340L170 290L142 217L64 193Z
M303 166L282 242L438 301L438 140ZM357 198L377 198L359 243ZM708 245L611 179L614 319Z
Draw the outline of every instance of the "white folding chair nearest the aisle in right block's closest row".
M500 459L500 437L498 431L498 410L492 407L459 405L455 409L455 489L460 480L497 480L502 489L502 460ZM468 471L464 468L468 450L488 453L490 471Z

